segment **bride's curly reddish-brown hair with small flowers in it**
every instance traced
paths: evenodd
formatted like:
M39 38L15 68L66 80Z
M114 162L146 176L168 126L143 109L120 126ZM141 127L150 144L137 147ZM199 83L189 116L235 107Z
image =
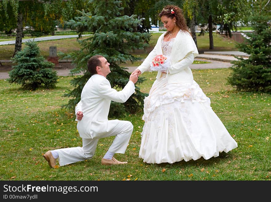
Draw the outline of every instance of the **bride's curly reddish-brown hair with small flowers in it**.
M159 17L161 18L163 15L171 19L175 17L176 26L178 26L181 29L181 31L187 31L188 33L190 33L188 30L188 26L186 24L186 19L184 18L184 15L183 15L183 10L180 9L180 7L174 6L174 5L165 6L163 10L161 11L161 13L159 14ZM166 35L167 34L168 32L166 33Z

